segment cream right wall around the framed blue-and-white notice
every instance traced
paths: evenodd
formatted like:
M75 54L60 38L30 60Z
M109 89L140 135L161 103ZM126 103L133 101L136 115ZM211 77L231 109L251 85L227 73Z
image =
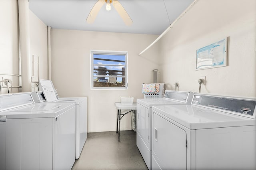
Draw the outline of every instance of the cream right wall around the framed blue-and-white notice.
M228 66L196 71L196 49L228 37ZM256 97L256 1L199 0L159 42L167 89Z

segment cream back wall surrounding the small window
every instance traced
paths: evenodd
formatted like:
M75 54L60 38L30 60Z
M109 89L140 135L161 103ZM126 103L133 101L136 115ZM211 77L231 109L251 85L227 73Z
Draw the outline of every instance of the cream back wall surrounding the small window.
M51 30L52 81L60 97L88 97L88 132L116 130L115 102L120 96L143 98L142 83L153 81L158 69L158 45L138 56L156 36ZM128 89L90 90L90 50L128 51ZM130 130L130 114L123 117L121 130Z

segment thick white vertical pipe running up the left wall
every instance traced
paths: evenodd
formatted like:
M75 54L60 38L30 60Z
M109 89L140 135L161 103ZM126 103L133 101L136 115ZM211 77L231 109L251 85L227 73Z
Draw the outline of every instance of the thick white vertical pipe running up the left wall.
M18 0L22 92L31 91L28 0Z

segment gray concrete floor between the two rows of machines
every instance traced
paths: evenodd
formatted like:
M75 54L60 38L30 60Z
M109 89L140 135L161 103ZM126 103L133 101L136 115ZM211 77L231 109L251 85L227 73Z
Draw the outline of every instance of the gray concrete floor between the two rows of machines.
M132 130L93 132L87 140L72 170L148 170L136 146L136 132Z

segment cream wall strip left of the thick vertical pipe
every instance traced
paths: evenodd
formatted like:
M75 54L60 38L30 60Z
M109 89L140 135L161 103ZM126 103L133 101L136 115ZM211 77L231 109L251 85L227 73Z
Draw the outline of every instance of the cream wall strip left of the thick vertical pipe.
M19 75L19 27L18 27L18 4L16 0L0 0L0 80L11 79L13 85L19 85L19 77L2 75ZM1 86L3 84L1 83ZM18 92L13 89L12 92ZM0 94L7 93L2 88Z

